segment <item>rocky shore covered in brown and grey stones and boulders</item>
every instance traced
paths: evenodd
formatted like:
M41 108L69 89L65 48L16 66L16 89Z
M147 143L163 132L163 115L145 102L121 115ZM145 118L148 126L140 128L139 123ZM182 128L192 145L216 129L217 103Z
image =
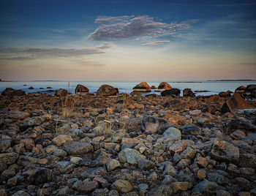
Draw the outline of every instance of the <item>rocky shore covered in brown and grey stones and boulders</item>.
M256 195L255 85L143 85L3 91L0 195Z

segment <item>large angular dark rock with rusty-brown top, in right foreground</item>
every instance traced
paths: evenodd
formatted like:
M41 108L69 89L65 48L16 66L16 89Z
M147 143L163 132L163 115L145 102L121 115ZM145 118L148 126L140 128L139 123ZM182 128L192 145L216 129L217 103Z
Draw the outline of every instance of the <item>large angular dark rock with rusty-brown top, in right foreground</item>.
M219 161L239 162L239 148L225 141L215 140L211 148L211 156Z

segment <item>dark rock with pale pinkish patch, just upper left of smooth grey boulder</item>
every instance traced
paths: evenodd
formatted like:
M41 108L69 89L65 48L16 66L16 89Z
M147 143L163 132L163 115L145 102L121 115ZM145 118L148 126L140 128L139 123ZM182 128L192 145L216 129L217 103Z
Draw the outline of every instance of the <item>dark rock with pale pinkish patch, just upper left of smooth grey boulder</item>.
M144 116L142 119L142 129L148 133L163 132L168 122L165 118L157 118L154 116Z

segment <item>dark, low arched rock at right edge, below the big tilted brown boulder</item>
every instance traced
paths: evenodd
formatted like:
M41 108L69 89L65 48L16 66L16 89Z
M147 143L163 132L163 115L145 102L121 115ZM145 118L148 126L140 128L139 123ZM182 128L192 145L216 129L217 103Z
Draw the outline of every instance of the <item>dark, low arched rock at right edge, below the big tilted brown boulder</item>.
M244 119L233 119L231 121L227 121L222 126L222 131L225 134L230 134L238 129L243 130L244 132L256 132L256 126L250 121Z

